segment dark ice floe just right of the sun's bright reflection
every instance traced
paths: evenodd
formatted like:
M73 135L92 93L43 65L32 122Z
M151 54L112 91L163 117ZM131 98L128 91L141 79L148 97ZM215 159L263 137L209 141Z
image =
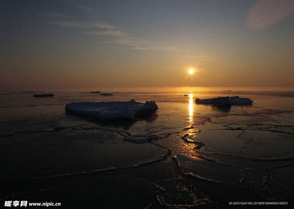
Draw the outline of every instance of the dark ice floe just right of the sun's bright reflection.
M198 104L211 104L211 105L248 105L253 102L249 98L235 97L216 97L211 99L195 99Z

